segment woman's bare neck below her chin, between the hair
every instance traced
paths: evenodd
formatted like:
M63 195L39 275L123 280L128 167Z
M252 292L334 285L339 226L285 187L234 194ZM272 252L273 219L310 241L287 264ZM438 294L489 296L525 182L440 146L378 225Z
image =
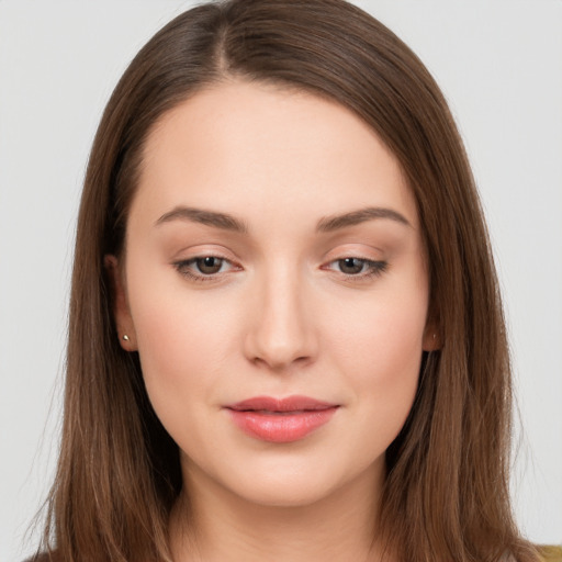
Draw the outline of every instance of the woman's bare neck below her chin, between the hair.
M362 475L364 479L370 476ZM176 562L390 562L375 538L379 484L350 482L308 505L271 506L247 502L207 480L191 483L175 506L170 537ZM194 485L196 481L196 485ZM191 485L190 485L191 484ZM366 494L366 490L372 491ZM188 499L189 495L189 499Z

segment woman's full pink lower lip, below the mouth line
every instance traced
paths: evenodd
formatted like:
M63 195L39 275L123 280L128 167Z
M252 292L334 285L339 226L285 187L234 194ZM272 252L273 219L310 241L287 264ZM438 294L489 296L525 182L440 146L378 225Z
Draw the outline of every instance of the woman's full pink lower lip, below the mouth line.
M263 412L228 409L234 423L250 437L274 443L304 439L327 424L337 407L297 413L269 414Z

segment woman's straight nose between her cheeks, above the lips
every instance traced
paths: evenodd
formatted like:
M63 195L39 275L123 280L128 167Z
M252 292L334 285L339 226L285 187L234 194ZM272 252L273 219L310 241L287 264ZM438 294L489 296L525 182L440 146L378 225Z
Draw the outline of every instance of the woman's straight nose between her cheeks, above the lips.
M317 353L317 337L304 283L285 268L257 282L251 300L246 357L273 371L306 364Z

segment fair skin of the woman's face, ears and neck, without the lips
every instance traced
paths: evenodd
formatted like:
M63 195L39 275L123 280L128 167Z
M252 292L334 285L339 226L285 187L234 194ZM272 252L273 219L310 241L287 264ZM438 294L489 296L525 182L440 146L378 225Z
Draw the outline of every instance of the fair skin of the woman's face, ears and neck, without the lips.
M144 156L106 262L122 346L180 450L173 560L380 560L384 452L435 346L396 159L341 105L241 81L165 114ZM295 395L329 406L305 435L234 420L240 401Z

